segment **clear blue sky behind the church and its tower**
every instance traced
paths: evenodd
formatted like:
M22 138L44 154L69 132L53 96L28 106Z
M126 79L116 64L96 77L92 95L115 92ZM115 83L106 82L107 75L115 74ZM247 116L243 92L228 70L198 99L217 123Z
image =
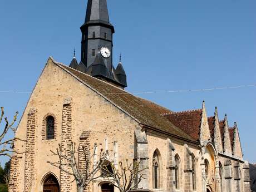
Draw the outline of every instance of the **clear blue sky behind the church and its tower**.
M80 58L86 0L0 2L0 91L29 92L47 58ZM114 64L122 53L130 92L256 84L255 0L108 0L115 26ZM218 106L238 122L244 159L256 162L255 87L140 97L173 111ZM0 93L0 106L21 116L29 94ZM1 164L7 158L1 157Z

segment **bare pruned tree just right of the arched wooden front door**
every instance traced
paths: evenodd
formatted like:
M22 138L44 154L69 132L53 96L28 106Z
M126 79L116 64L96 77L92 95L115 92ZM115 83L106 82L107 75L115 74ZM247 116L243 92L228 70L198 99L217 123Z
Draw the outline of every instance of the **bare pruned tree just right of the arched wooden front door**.
M96 147L97 144L95 144L93 149L93 155L91 156L90 154L88 154L88 151L86 151L85 147L82 147L82 152L84 156L83 160L85 163L82 169L78 169L78 162L76 160L76 155L78 154L77 151L80 147L78 146L78 150L76 151L76 144L74 142L71 142L68 149L64 152L60 144L56 149L56 152L51 150L52 155L58 156L59 161L56 163L47 161L47 163L59 168L60 170L64 171L69 175L74 176L74 180L76 181L77 186L77 192L83 192L92 180L98 178L95 177L95 175L104 165L105 159L108 155L108 151L103 152L103 149L101 149L100 159L92 166L91 159L93 158L93 156L96 155Z

